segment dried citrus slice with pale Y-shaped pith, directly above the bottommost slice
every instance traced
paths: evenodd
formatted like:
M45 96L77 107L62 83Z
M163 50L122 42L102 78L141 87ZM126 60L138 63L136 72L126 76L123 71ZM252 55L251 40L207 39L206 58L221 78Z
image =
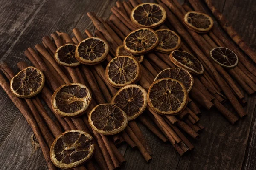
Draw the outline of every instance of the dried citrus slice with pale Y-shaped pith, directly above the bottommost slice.
M83 84L70 83L59 87L52 95L53 111L63 117L84 114L91 102L91 92Z

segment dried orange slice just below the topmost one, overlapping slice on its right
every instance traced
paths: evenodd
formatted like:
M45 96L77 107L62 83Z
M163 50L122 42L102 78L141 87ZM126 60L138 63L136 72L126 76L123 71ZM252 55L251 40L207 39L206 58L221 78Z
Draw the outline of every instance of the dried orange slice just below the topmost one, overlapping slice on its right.
M157 33L149 28L141 28L131 32L124 40L124 48L131 54L145 54L158 45Z

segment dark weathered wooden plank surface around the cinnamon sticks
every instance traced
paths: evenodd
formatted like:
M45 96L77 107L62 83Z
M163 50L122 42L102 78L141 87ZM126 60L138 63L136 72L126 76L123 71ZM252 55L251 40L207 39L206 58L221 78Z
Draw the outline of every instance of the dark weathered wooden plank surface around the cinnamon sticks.
M144 0L154 1L154 0ZM236 31L256 50L256 1L212 0ZM116 0L0 0L0 61L16 64L27 61L28 47L41 43L53 31L71 34L75 27L93 32L86 13L94 11L108 18ZM180 0L183 2L183 0ZM47 165L26 120L0 88L0 170L45 170ZM215 109L202 111L201 124L206 128L195 150L180 157L171 144L164 144L143 125L139 125L154 153L146 164L139 151L123 145L120 151L127 159L126 170L255 170L256 169L256 97L247 99L247 118L230 125Z

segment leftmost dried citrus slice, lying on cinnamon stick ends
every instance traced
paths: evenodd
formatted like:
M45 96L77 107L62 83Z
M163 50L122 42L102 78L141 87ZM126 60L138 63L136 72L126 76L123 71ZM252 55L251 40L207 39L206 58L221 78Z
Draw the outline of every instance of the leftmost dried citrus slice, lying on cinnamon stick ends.
M30 98L44 87L44 74L35 67L28 67L20 71L10 81L12 93L20 98Z

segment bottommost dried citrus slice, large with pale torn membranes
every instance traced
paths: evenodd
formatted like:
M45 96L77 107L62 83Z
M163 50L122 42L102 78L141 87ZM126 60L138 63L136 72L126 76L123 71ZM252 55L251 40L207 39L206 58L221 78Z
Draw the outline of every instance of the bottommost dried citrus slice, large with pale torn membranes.
M70 169L91 158L94 151L92 136L81 130L69 130L59 135L52 143L52 163L61 169Z

